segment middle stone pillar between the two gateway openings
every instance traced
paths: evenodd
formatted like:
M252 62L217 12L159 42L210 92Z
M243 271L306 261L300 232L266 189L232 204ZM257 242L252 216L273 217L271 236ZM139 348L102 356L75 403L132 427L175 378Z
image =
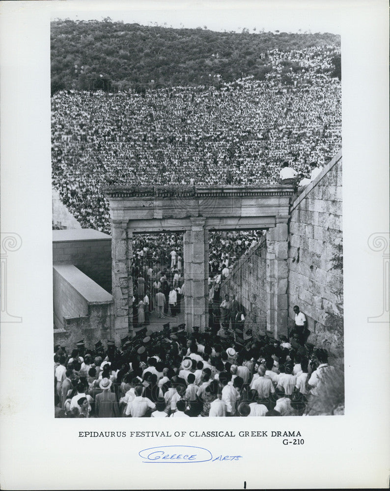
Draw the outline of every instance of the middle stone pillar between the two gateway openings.
M187 332L194 326L204 332L208 324L208 230L205 218L191 218L184 235L184 322Z

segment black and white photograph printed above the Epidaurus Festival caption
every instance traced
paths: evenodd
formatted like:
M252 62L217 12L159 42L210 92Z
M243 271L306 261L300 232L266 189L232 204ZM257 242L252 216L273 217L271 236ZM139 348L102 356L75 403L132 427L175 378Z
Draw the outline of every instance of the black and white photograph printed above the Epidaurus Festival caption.
M52 21L56 417L343 414L340 35L255 23Z

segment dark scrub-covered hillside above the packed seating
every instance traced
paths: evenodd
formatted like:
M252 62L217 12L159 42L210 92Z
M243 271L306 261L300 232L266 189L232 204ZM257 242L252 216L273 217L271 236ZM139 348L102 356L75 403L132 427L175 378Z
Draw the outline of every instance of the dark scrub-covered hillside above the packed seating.
M51 26L52 93L61 89L118 91L214 85L272 70L269 51L340 46L330 33L214 32L99 21L56 20ZM341 78L340 55L327 75ZM284 83L298 63L286 59ZM282 73L282 74L283 74ZM324 72L325 73L325 72ZM291 79L292 83L292 79Z

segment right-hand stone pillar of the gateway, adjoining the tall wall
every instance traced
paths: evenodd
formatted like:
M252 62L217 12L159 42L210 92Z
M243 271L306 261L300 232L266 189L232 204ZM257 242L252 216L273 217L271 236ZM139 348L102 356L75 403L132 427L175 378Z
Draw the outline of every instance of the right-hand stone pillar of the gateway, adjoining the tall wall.
M277 216L267 240L267 331L275 337L287 334L288 216Z

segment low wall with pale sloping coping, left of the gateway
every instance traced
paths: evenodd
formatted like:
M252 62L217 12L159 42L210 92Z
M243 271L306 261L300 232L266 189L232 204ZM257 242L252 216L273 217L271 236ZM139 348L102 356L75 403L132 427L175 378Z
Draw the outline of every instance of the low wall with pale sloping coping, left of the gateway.
M74 265L53 266L54 340L89 345L113 335L112 296Z

